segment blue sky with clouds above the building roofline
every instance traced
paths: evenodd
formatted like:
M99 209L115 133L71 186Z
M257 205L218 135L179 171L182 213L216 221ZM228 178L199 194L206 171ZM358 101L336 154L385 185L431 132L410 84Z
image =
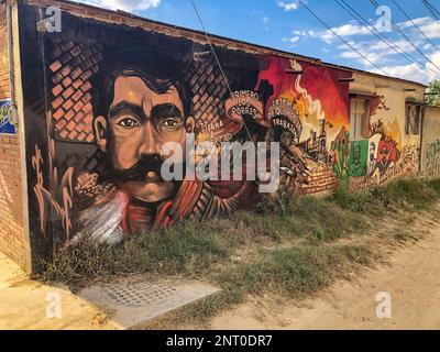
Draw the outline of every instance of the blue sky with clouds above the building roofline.
M343 0L369 24L361 24L345 12L337 3L342 0L194 1L211 34L422 84L440 79L440 0L425 1L438 11L438 19L422 0L373 0L384 7L385 13L376 13L370 0ZM190 0L79 2L201 30ZM378 33L387 44L372 32Z

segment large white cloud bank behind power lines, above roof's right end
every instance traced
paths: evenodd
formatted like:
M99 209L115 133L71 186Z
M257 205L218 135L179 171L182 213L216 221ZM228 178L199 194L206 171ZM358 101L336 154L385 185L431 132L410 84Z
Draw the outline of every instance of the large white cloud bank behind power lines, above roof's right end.
M425 18L416 18L413 19L413 22L420 28L420 30L431 40L440 40L440 23L435 19L425 16ZM416 48L408 43L405 38L397 37L396 35L385 35L387 37L388 44L396 48L397 52L403 52L406 54L410 54L414 57L417 57L419 63L410 63L409 61L404 61L404 58L396 52L389 47L387 43L376 38L373 36L373 32L375 32L373 25L374 20L371 20L369 28L359 24L355 21L350 21L348 23L337 25L332 28L339 36L344 38L351 46L353 46L359 53L361 53L364 57L355 53L349 45L340 44L337 42L339 40L332 33L332 31L307 31L307 30L296 30L293 31L292 38L283 38L284 42L298 41L296 37L308 36L310 38L319 38L323 43L331 44L334 46L330 50L330 52L336 52L334 54L344 59L358 61L361 64L363 69L370 72L376 72L378 74L384 74L382 70L377 69L374 65L383 68L387 74L394 77L399 77L404 79L409 79L414 81L419 81L422 84L427 84L431 79L440 78L440 69L438 69L433 64L424 59L418 53L416 53ZM413 44L422 50L425 55L429 57L429 59L440 67L440 53L435 52L435 47L428 43L426 37L424 37L419 31L414 26L411 21L399 22L397 25L405 31L405 33L410 37ZM371 30L371 31L370 31ZM294 43L294 42L293 42ZM436 42L435 42L436 43ZM440 46L440 44L438 44ZM326 47L322 48L323 52L328 52ZM373 64L374 65L373 65ZM422 65L424 67L420 67ZM436 75L433 72L437 72Z

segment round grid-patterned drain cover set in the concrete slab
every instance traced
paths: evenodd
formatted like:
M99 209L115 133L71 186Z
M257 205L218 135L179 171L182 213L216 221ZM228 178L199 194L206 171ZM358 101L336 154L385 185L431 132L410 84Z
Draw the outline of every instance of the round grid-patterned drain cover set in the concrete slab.
M176 294L176 288L150 283L118 284L103 287L102 294L119 305L139 307L169 299Z

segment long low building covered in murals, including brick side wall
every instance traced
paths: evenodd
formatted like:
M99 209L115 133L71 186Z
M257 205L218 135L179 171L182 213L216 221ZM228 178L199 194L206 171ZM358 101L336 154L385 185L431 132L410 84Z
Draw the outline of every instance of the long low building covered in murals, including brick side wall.
M255 182L158 179L162 146L188 134L196 166L205 142L280 142L276 197L439 175L420 84L70 2L0 11L0 249L28 271L85 232L252 208Z

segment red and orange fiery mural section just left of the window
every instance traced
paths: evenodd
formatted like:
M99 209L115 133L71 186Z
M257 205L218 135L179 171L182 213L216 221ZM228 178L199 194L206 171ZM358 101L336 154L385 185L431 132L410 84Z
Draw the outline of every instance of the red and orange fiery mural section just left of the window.
M266 69L260 73L258 85L267 82L273 87L268 101L272 109L295 106L297 119L290 130L307 170L297 191L312 194L334 188L348 179L349 84L341 79L351 74L280 57L270 57L264 63ZM270 119L272 116L270 109ZM272 119L272 124L276 130L283 119Z

